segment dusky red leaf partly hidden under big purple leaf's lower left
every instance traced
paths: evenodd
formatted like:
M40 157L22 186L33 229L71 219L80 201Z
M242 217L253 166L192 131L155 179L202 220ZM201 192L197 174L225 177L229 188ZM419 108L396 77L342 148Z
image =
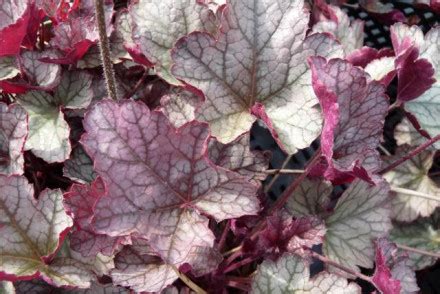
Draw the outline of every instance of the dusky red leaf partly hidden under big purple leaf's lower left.
M84 257L96 256L98 253L111 256L130 239L94 232L91 226L94 207L105 193L104 183L97 178L90 185L73 184L64 195L64 206L72 215L76 226L76 230L70 235L70 246Z

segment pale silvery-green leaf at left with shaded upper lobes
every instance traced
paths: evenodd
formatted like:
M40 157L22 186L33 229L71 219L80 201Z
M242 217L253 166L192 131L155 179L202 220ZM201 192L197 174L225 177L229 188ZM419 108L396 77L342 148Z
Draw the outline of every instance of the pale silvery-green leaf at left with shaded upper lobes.
M69 71L64 73L54 96L42 91L30 91L18 97L18 102L29 114L27 150L32 150L47 162L61 162L69 157L70 129L61 107L87 107L93 97L91 83L91 76L87 73Z

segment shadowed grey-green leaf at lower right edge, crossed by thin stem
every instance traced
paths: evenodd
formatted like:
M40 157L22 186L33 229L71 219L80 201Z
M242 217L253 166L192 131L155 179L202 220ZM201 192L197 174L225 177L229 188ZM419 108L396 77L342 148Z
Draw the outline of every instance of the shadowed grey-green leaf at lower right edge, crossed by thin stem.
M390 239L397 244L440 254L440 211L410 224L396 224L390 232ZM409 266L414 270L424 269L437 261L437 258L412 251L408 254Z

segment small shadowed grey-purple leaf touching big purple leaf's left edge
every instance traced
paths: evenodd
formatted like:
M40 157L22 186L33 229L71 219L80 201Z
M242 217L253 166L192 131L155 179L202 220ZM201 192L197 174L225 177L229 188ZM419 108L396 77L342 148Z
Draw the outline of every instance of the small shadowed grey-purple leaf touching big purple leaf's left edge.
M91 183L96 178L93 161L81 145L75 147L70 158L64 162L63 175L80 184Z

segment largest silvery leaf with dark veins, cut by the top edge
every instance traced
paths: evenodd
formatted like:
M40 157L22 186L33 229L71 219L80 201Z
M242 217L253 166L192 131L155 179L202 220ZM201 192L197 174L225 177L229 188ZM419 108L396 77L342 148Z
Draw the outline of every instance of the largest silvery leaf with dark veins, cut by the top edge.
M247 132L256 119L251 111L289 153L319 135L322 119L306 59L338 57L342 48L328 35L305 36L303 7L302 0L230 1L217 39L194 32L176 44L173 73L205 94L197 118L210 123L220 142Z

